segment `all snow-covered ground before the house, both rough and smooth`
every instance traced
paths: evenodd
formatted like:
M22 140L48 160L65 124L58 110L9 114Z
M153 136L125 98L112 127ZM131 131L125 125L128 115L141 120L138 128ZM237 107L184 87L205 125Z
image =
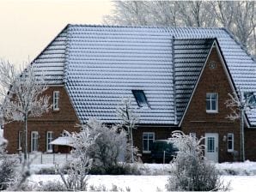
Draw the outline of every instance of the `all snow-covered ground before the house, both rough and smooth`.
M40 168L49 168L50 165L33 165L34 170ZM88 186L99 187L104 185L106 189L113 189L113 185L131 191L166 191L165 185L168 181L171 165L162 164L139 164L137 165L143 176L90 176ZM244 163L222 163L216 164L218 170L222 173L224 183L230 182L231 191L255 191L256 189L256 162L246 161ZM54 168L54 165L52 165ZM39 183L40 181L60 181L58 175L33 175L29 178L31 182Z

